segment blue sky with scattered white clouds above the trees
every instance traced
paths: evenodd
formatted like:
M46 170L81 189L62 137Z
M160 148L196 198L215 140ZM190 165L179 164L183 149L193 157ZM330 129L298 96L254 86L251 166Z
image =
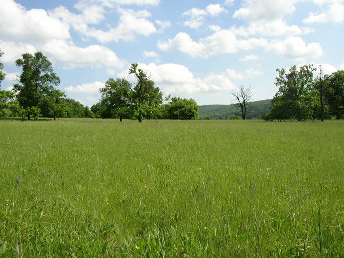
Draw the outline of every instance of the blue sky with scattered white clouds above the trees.
M271 99L276 69L344 70L344 0L0 0L1 88L22 54L41 51L58 89L91 107L132 63L164 96L231 104L239 86ZM317 71L318 72L318 71ZM316 74L315 74L316 76Z

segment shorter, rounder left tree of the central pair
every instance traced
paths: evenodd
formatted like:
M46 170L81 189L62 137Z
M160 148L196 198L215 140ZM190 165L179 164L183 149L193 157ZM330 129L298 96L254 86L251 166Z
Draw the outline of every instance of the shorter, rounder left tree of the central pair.
M100 89L100 112L103 118L122 119L130 112L132 85L126 79L109 78Z

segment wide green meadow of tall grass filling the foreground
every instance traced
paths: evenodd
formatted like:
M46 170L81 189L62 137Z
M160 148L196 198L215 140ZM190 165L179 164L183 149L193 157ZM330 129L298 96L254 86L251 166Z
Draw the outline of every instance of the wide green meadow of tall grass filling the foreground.
M344 257L344 121L0 132L0 257Z

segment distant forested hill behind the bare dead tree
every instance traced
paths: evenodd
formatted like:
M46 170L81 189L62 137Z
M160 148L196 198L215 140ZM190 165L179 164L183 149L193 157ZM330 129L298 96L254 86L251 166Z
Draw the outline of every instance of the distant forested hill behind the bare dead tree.
M262 116L269 110L271 106L271 99L252 101L251 107L248 109L247 119L261 119ZM231 105L204 105L200 106L199 119L230 119L233 115L240 115L241 111L236 104Z

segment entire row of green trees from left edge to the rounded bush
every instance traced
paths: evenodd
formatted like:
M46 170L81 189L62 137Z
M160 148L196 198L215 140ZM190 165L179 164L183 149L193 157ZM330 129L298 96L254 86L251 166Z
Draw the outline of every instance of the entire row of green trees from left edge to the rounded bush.
M0 50L0 57L4 53ZM147 73L132 64L129 73L136 82L124 78L109 78L100 89L101 99L90 109L80 102L67 98L56 87L60 78L51 62L41 52L25 53L16 60L22 69L18 83L13 90L0 90L0 117L27 117L28 120L44 117L101 117L143 119L196 119L199 106L193 99L170 96L163 104L163 94ZM0 63L0 86L5 78Z

